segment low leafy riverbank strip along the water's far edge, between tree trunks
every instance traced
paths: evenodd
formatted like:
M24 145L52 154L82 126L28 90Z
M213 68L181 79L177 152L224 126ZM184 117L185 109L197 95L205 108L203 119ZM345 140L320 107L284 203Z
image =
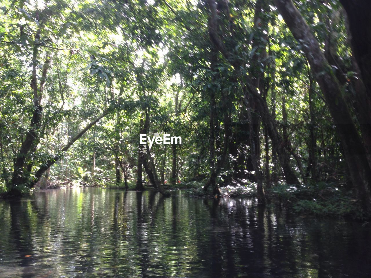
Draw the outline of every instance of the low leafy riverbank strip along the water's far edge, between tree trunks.
M164 189L174 192L182 190L188 196L200 198L214 198L211 191L205 192L203 181L181 182L176 184L165 184ZM44 189L61 188L88 188L101 187L108 189L125 189L124 184L117 186L109 179L63 179L51 180L47 185L40 187L37 185L33 192ZM135 190L135 181L128 181L130 191ZM153 189L146 186L146 189ZM245 182L234 186L223 186L220 188L219 198L256 198L256 183ZM4 194L4 192L2 192ZM1 195L0 195L1 197ZM301 215L330 216L335 218L348 218L357 221L371 222L369 214L362 212L354 194L345 191L342 186L335 186L328 183L302 186L295 188L286 184L278 184L272 189L266 190L267 206L281 206L290 211Z

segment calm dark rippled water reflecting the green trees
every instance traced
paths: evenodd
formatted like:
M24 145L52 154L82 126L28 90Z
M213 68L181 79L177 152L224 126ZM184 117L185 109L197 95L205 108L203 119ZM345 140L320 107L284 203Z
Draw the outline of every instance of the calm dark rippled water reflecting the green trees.
M371 230L246 199L98 188L0 201L0 277L371 277Z

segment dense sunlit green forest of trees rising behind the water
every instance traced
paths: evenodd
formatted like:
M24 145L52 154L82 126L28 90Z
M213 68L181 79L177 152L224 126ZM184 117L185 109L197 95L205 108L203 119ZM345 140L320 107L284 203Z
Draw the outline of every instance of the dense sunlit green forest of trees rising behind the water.
M0 6L3 197L187 188L370 215L369 1Z

